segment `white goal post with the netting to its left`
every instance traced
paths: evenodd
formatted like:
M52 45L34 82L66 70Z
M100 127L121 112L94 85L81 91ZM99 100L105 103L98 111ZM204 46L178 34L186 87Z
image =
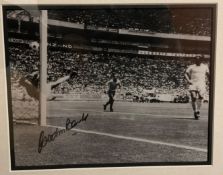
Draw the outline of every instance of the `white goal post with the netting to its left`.
M9 81L14 123L46 124L47 11L42 10L38 15L40 41L24 38L22 42L12 42L9 38Z

